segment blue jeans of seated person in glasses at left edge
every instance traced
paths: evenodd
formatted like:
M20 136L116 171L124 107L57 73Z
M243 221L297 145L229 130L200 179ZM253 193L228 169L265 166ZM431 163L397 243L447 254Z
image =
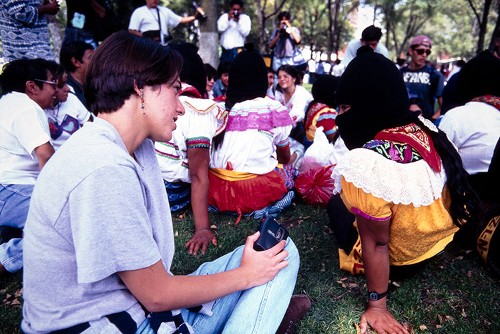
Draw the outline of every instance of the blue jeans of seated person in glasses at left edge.
M33 185L0 184L0 226L24 228ZM0 263L13 273L23 267L23 240L10 239L0 245Z

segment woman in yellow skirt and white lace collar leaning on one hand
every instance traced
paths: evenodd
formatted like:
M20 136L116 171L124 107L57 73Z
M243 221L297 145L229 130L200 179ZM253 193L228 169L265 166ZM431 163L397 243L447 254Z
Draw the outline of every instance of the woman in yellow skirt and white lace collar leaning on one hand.
M345 207L334 195L328 208L340 266L366 276L361 332L407 334L387 310L389 275L415 271L477 221L475 194L446 135L409 111L401 74L369 46L346 68L337 102L350 149L332 173Z

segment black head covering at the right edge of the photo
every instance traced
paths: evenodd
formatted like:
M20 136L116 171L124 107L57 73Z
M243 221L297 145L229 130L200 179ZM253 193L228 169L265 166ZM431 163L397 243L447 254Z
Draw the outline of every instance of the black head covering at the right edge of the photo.
M457 78L460 103L482 95L500 96L500 59L488 50L469 60Z

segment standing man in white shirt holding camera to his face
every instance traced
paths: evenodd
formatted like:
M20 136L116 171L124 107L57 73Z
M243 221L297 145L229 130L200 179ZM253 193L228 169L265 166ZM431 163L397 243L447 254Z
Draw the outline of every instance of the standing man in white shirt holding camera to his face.
M217 20L217 29L221 33L221 63L233 61L239 50L243 49L245 38L252 28L250 17L243 14L243 1L231 0L229 6L229 12L222 14Z

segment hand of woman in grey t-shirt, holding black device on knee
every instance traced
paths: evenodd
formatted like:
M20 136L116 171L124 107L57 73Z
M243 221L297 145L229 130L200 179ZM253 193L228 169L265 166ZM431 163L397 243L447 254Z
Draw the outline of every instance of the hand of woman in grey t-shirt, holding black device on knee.
M243 277L249 280L248 288L269 282L281 269L288 266L288 261L285 260L288 252L284 249L286 241L282 240L274 247L258 252L253 249L253 244L259 235L256 232L247 238L241 257L240 270L244 271Z

